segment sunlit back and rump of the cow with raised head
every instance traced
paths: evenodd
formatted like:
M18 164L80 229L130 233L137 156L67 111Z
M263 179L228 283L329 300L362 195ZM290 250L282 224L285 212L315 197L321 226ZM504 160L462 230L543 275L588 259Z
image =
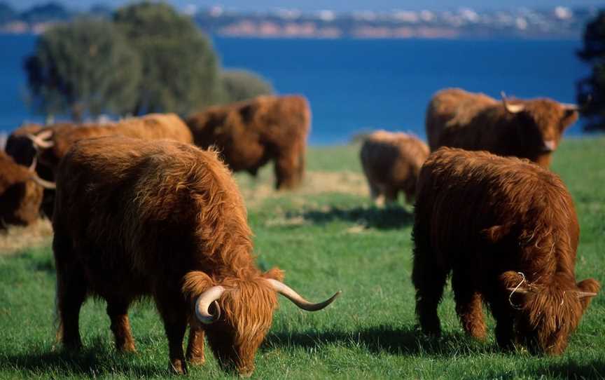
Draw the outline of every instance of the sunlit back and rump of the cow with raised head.
M443 146L440 143L443 130L464 128L480 111L497 103L485 94L469 93L460 88L447 88L433 95L426 110L425 125L431 151Z

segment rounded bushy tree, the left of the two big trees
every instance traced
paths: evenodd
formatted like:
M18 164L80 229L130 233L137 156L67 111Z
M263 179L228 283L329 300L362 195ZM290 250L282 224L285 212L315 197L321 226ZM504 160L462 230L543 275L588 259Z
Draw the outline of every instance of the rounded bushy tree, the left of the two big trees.
M25 71L32 103L43 114L126 114L136 104L139 57L109 21L78 18L44 33Z

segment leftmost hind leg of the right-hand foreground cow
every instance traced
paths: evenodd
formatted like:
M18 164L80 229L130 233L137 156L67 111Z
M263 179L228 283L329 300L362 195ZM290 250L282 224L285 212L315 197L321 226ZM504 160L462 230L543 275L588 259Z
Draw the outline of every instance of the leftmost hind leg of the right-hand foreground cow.
M441 334L441 325L437 306L443 295L447 271L436 263L431 252L424 248L428 245L418 240L422 239L416 241L412 268L412 283L416 288L416 315L424 334L438 336Z

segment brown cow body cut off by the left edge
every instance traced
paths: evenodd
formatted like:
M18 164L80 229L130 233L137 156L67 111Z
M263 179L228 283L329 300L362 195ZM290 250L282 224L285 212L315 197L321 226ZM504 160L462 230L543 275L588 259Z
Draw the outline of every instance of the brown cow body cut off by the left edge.
M32 171L0 151L0 229L28 225L39 218L42 188L29 179Z

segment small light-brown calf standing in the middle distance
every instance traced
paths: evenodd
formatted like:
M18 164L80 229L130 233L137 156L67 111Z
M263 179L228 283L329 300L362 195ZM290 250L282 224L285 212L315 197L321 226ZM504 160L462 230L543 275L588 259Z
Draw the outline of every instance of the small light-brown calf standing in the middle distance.
M395 202L399 191L413 202L420 167L429 156L424 142L406 133L377 130L364 140L359 156L375 202L380 203L380 196Z

